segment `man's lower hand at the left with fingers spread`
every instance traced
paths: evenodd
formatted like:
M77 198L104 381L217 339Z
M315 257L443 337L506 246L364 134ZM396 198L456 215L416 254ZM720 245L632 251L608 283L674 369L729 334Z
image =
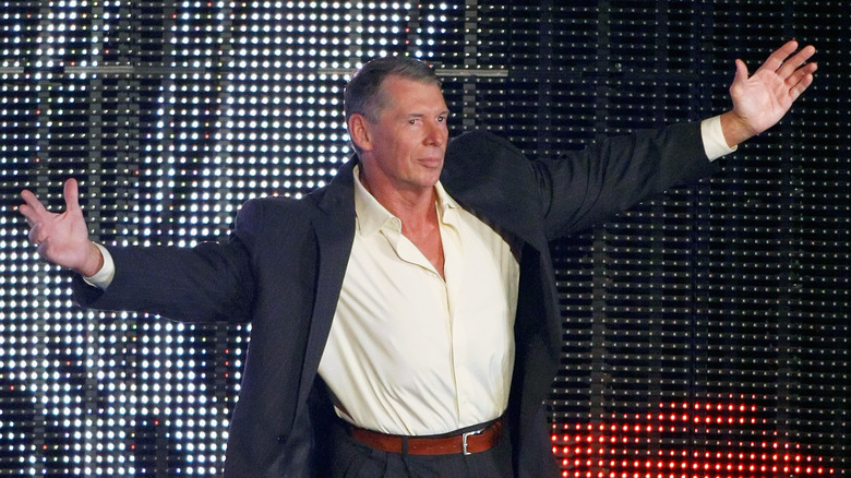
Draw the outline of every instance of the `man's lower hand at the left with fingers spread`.
M48 262L71 268L84 277L95 275L104 265L100 250L88 239L88 228L80 207L75 179L65 181L65 212L51 213L31 191L21 196L25 204L19 211L29 224L29 241Z

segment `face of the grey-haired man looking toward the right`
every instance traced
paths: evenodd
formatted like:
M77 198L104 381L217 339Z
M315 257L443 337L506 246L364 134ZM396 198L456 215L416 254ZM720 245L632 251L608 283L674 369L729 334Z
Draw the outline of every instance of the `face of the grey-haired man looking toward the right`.
M450 113L435 84L399 76L382 82L385 107L375 123L364 120L369 141L361 144L369 186L421 192L440 179L446 153Z

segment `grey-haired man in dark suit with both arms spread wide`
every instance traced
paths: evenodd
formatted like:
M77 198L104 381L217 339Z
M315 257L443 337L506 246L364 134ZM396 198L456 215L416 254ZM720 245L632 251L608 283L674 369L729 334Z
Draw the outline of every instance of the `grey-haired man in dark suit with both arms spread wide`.
M227 243L104 248L74 180L67 211L28 191L46 260L77 301L187 321L252 321L228 477L556 476L543 399L561 318L548 242L709 174L813 81L789 41L710 120L529 162L489 133L448 140L440 83L410 59L350 81L357 155L303 200L245 203ZM82 278L85 277L85 280Z

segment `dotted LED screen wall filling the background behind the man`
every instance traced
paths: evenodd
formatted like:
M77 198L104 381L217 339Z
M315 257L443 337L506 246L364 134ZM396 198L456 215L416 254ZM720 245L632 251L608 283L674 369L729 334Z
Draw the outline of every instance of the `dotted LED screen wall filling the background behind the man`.
M567 477L848 471L848 12L834 1L7 1L0 9L0 476L215 475L250 325L75 308L15 207L75 177L93 237L221 239L350 154L349 72L412 55L455 132L530 157L729 106L790 37L816 85L720 174L552 244Z

